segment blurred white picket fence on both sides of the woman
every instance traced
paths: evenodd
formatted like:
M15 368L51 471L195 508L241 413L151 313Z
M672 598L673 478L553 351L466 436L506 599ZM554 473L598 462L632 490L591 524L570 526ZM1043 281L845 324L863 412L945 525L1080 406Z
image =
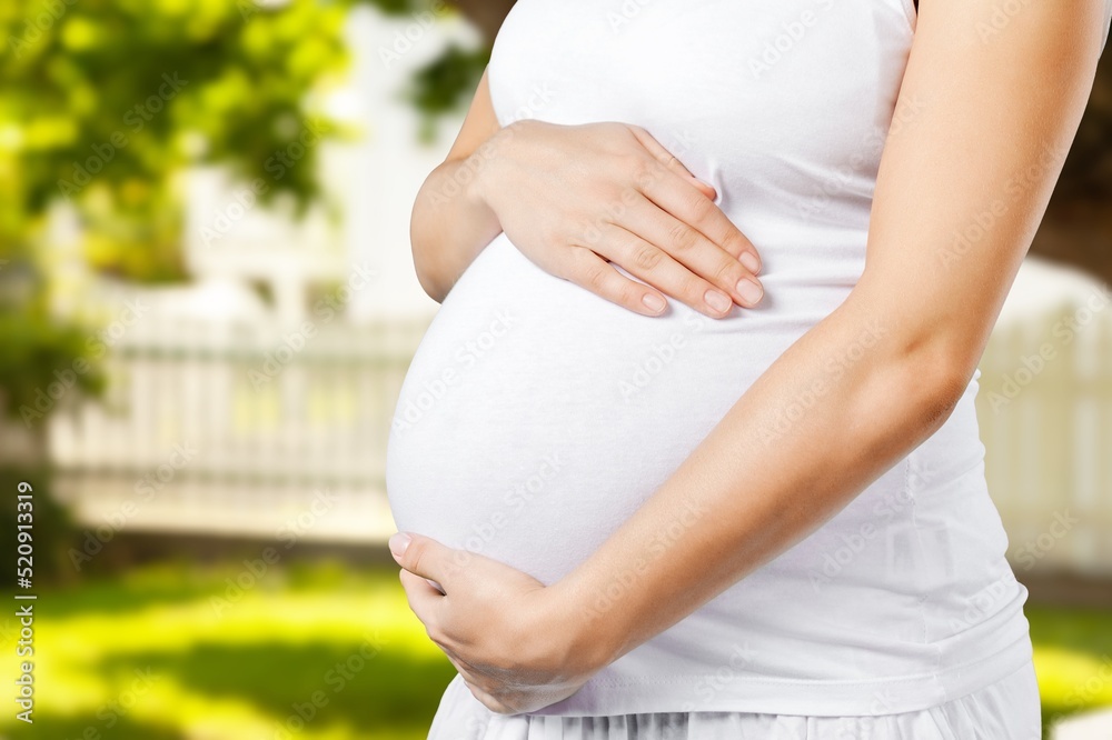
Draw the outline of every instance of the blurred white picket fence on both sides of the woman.
M1020 571L1112 574L1112 311L1078 311L997 327L981 364L989 486ZM53 417L60 489L106 536L381 541L390 416L426 326L337 319L298 349L258 321L147 318L110 353L106 398Z

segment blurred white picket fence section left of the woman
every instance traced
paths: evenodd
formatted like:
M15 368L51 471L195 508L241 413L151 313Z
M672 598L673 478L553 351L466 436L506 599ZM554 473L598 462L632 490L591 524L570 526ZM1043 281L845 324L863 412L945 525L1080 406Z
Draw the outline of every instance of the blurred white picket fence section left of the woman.
M50 420L59 496L101 540L380 541L389 420L426 327L145 318L108 354L105 398Z

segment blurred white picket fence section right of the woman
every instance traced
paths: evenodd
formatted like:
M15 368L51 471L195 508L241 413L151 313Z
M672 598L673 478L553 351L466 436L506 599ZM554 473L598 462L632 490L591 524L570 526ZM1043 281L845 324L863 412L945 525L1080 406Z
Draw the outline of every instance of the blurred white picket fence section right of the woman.
M985 474L1020 574L1112 574L1112 306L1100 294L997 326L981 362Z

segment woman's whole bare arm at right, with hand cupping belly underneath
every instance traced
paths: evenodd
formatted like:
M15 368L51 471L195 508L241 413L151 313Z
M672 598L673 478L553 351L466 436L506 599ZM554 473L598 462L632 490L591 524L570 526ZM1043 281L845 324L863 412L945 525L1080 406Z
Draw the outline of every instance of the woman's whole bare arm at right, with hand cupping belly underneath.
M399 562L448 593L404 572L414 611L487 707L569 696L806 537L949 417L1045 210L1103 31L1102 0L1029 3L1006 22L995 6L927 0L900 92L919 112L888 134L858 284L590 558L543 588L413 538ZM676 522L683 536L654 554ZM507 634L542 637L507 651Z

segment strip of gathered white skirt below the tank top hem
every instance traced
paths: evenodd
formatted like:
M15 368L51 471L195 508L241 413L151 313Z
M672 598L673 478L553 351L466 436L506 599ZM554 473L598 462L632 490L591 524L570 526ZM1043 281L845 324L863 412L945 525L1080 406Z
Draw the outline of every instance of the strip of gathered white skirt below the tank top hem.
M878 717L658 712L609 717L497 714L456 676L428 740L1040 740L1033 663L946 703Z

